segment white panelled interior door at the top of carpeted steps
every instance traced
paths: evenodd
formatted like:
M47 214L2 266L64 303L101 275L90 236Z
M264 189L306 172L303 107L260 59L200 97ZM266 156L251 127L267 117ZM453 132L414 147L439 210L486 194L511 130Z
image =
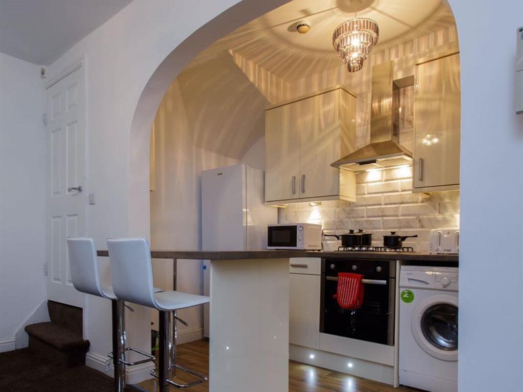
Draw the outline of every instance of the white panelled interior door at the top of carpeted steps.
M84 306L71 282L67 237L85 236L84 80L82 67L47 89L49 151L48 298Z

